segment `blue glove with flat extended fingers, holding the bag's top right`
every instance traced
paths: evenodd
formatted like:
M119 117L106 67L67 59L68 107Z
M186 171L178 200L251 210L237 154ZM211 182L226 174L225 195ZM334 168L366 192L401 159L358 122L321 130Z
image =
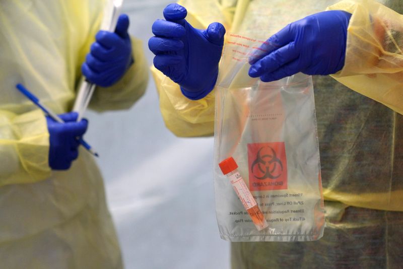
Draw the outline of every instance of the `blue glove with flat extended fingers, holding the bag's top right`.
M298 72L337 73L344 66L350 17L344 11L325 11L287 25L260 46L264 53L249 58L249 76L270 82Z

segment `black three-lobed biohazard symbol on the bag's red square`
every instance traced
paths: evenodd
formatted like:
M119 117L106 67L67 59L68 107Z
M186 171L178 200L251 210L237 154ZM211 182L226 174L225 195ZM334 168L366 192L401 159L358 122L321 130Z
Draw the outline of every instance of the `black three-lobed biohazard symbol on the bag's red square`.
M269 146L259 149L256 160L253 161L251 170L257 179L276 179L283 173L283 164L276 156L276 152Z

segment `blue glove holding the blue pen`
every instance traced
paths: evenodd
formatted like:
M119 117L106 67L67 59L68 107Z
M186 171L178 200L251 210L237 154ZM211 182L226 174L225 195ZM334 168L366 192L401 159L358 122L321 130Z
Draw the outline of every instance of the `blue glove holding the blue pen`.
M46 116L49 131L49 166L53 170L69 169L79 155L78 139L86 132L88 121L82 119L77 122L77 116L76 112L60 114L59 117L64 123Z

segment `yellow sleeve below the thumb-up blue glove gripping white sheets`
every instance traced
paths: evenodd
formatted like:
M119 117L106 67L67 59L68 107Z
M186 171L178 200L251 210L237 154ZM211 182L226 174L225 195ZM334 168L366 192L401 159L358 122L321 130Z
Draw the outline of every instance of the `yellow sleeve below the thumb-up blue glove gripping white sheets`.
M135 62L113 86L95 89L90 103L91 109L96 111L128 109L143 96L149 79L143 42L131 38L131 47Z

